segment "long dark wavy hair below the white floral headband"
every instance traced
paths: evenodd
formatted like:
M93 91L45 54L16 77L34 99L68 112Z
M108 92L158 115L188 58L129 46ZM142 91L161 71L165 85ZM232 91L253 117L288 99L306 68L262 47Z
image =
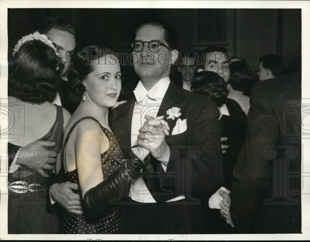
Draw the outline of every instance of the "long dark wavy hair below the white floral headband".
M40 40L27 41L8 63L9 96L37 104L55 99L64 65L53 48Z

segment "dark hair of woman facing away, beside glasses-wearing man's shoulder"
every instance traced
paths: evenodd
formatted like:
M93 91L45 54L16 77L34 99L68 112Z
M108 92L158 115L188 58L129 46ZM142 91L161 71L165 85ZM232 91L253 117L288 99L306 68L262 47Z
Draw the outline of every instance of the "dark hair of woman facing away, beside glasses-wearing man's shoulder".
M205 96L221 107L228 95L226 83L222 77L215 72L202 71L195 75L191 89L193 93Z

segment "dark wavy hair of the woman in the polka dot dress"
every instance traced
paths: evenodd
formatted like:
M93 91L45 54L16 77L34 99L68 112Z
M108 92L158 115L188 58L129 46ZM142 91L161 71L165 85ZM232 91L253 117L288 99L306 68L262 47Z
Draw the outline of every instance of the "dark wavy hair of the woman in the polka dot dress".
M108 54L115 54L114 51L102 46L87 46L80 50L73 58L68 68L68 95L73 103L80 103L86 87L83 80L93 71L92 61L98 61Z

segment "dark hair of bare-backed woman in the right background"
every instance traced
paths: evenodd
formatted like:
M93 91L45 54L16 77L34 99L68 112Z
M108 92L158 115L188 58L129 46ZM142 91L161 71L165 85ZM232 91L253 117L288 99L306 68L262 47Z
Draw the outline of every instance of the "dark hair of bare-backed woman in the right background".
M229 65L230 79L228 83L234 90L247 93L253 86L253 76L245 59L234 61Z

